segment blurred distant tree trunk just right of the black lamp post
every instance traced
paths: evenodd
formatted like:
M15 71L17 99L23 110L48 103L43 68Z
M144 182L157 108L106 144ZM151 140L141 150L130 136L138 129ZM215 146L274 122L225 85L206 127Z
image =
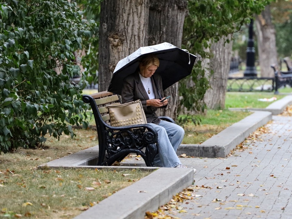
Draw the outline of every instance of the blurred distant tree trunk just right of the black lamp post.
M265 10L260 15L255 16L255 23L261 77L273 77L274 72L270 66L277 64L277 48L275 29L271 21L269 5L265 7Z

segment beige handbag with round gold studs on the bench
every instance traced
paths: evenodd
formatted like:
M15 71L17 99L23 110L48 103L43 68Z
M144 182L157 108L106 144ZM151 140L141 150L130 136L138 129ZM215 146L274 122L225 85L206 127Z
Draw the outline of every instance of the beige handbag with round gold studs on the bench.
M119 105L108 105L110 125L113 127L146 124L146 116L140 100Z

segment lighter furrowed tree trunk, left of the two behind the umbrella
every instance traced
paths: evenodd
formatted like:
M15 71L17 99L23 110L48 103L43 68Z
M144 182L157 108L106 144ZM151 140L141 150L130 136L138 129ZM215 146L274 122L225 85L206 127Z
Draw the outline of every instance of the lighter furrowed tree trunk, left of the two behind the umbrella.
M99 25L99 91L109 87L120 59L147 46L149 0L101 3Z

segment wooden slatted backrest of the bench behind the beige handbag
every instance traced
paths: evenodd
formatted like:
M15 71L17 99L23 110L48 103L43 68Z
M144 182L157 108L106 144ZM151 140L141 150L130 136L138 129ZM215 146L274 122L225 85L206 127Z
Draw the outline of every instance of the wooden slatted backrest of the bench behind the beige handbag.
M108 109L106 109L106 106L110 104L114 104L114 105L121 104L119 96L107 91L94 93L94 94L91 94L90 96L92 96L95 99L97 108L99 110L99 113L103 121L106 123L109 123L109 120L110 120L109 112L108 112Z

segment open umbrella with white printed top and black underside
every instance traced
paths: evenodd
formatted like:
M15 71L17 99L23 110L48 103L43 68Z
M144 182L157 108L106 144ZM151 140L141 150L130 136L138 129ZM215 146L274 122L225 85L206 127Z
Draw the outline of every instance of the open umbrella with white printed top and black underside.
M113 71L108 91L121 95L123 79L137 71L140 58L146 54L155 54L159 59L159 67L155 74L161 75L163 90L190 75L196 61L195 55L170 43L140 47L118 62Z

